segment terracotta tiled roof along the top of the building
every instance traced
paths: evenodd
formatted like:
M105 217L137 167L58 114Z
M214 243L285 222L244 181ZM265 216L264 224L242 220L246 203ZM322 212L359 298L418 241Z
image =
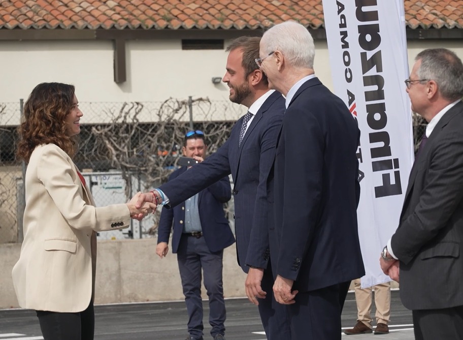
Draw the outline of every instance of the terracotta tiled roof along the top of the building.
M410 28L463 28L463 0L405 0ZM0 0L0 29L323 26L322 0Z

